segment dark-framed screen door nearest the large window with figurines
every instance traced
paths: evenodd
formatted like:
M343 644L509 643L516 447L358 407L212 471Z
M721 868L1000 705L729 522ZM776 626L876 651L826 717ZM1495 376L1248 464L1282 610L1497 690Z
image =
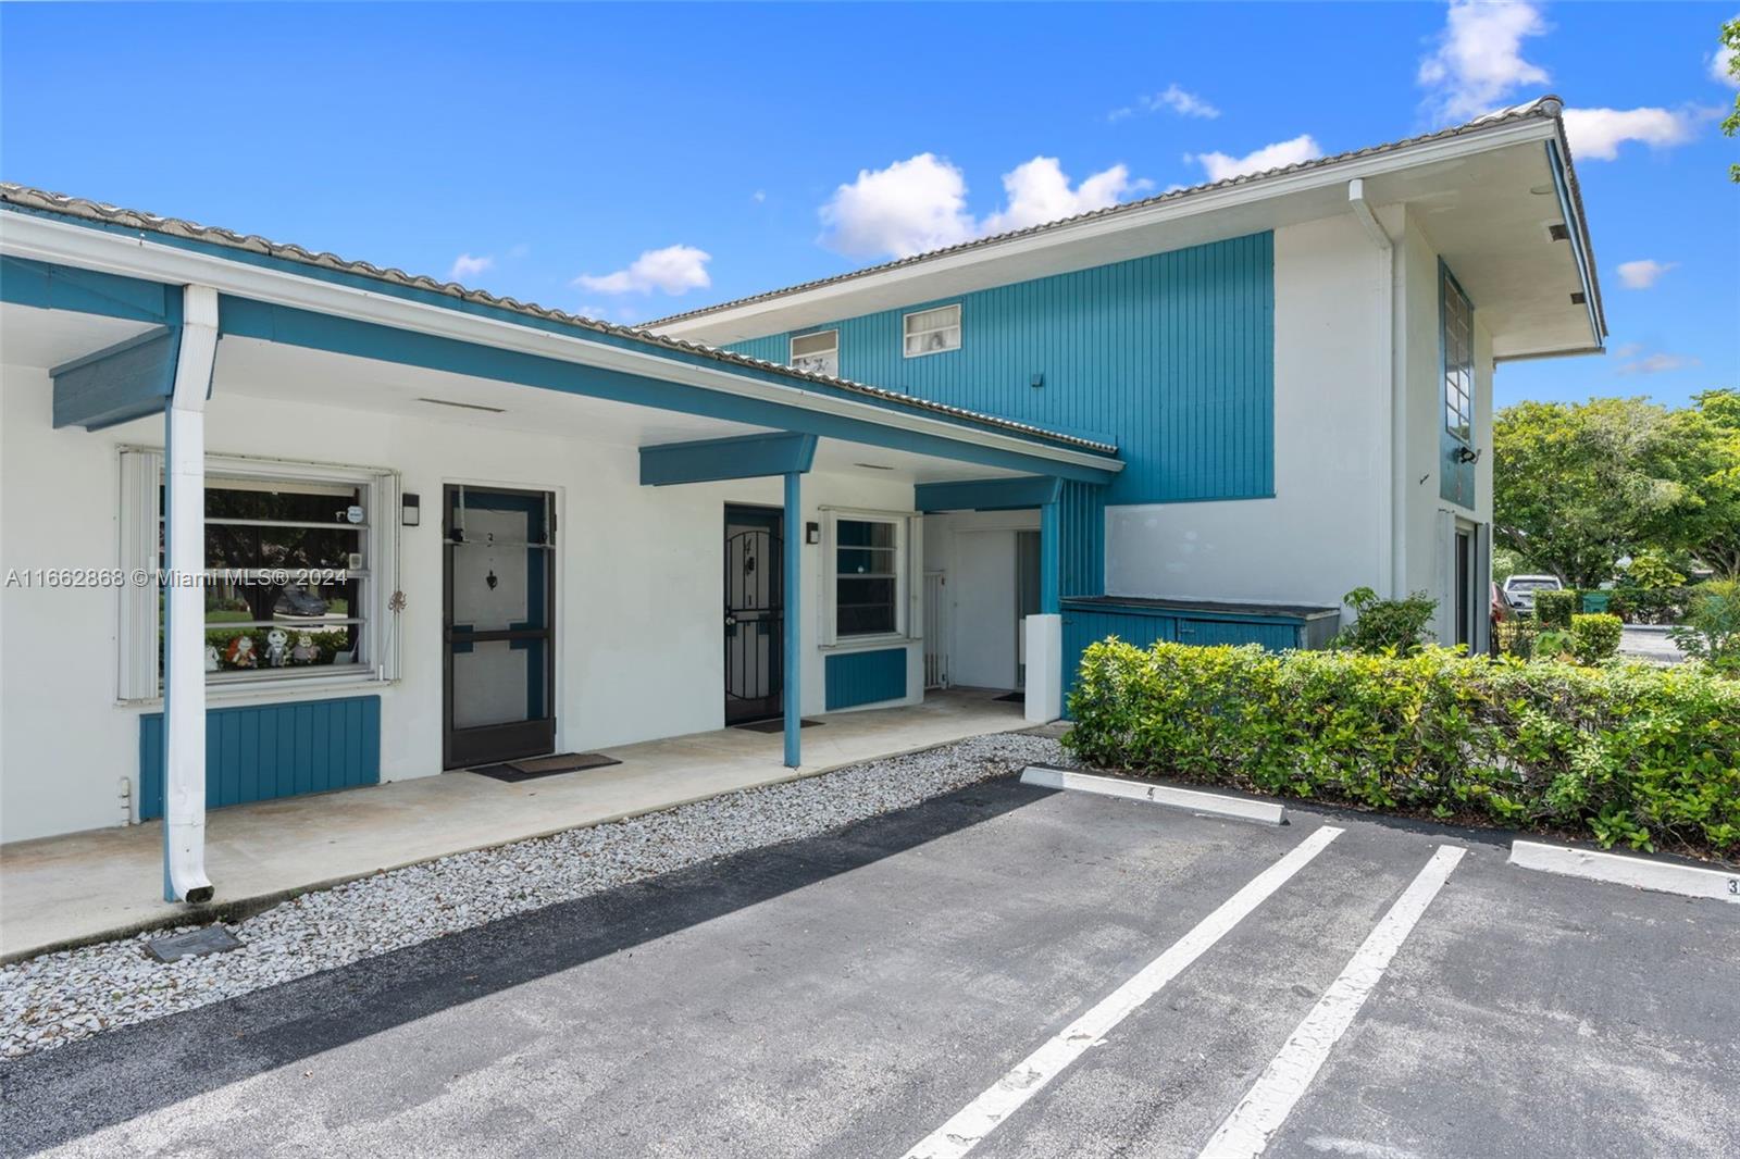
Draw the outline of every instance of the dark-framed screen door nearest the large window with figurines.
M449 769L555 750L553 512L545 491L445 489Z

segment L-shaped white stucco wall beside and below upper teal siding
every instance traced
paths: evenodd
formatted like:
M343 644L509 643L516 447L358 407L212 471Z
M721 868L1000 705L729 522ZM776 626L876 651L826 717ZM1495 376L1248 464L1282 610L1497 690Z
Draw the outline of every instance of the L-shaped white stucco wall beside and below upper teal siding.
M1107 510L1107 590L1336 606L1382 588L1380 251L1350 218L1275 230L1275 496Z

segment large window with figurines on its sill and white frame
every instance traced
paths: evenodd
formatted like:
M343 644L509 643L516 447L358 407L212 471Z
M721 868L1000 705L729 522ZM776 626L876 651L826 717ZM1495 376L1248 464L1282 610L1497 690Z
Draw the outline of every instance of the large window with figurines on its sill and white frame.
M122 454L124 555L167 569L162 454ZM205 472L207 682L386 675L397 477L221 458ZM124 597L124 700L162 689L162 595Z

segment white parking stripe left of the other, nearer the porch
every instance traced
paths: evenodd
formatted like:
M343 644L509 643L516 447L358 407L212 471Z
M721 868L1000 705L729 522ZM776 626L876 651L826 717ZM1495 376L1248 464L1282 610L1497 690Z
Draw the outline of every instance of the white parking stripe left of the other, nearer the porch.
M1037 1095L1051 1079L1105 1039L1138 1006L1147 1002L1183 969L1221 940L1289 877L1305 868L1312 858L1342 835L1340 828L1324 825L1310 837L1293 846L1286 856L1253 877L1239 893L1204 917L1183 938L1157 959L1143 966L1129 981L1114 990L1098 1006L1072 1022L1061 1034L1023 1058L983 1095L960 1109L943 1126L936 1128L907 1152L905 1159L959 1159L973 1150L997 1124L1014 1114L1021 1103Z

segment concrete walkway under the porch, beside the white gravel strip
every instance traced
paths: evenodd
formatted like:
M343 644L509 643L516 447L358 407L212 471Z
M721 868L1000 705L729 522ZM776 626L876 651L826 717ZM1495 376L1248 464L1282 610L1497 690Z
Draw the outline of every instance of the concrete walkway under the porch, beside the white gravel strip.
M804 729L806 764L795 773L780 762L778 733L722 729L623 745L609 750L618 766L519 785L442 773L216 809L205 821L205 870L218 896L198 910L162 900L158 821L0 846L0 961L190 921L200 910L261 908L383 868L1027 727L1021 705L995 696L950 689L910 708L820 717L821 727Z

